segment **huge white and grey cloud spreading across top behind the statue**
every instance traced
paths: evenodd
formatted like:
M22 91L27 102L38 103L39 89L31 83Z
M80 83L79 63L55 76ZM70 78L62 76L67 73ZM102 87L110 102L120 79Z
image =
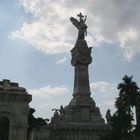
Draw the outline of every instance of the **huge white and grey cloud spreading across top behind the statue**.
M88 15L89 43L117 43L126 60L140 53L140 1L138 0L20 0L32 22L25 21L21 29L11 33L45 53L66 53L75 43L77 31L69 17L82 11ZM137 32L137 37L132 36ZM126 35L127 34L127 35ZM129 34L129 35L128 35ZM125 35L127 36L125 38ZM93 44L93 45L94 45ZM92 45L92 46L93 46Z

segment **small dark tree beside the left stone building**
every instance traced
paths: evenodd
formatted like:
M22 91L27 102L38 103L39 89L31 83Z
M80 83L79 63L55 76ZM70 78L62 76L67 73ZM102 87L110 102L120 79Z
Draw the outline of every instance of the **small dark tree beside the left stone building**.
M46 120L43 118L35 118L34 117L34 112L35 109L34 108L30 108L29 110L29 115L28 115L28 130L27 130L27 140L31 139L31 134L34 128L39 129L40 127L46 125Z

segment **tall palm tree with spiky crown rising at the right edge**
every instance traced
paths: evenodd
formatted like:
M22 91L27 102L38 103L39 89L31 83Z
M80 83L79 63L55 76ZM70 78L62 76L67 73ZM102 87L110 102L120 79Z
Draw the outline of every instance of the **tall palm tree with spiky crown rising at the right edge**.
M136 121L138 120L137 116L137 97L138 97L138 90L139 87L137 86L137 83L132 81L133 76L127 76L125 75L123 77L123 83L120 83L118 85L118 89L120 90L120 95L123 95L126 97L127 103L130 107L135 106L135 114L136 114ZM137 122L138 123L138 122Z

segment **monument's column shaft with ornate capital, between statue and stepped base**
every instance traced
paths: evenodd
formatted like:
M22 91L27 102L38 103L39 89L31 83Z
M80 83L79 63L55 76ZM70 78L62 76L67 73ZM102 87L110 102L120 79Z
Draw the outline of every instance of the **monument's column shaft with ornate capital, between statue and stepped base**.
M73 96L90 96L88 65L92 62L91 48L85 40L78 39L71 50L71 64L75 67Z

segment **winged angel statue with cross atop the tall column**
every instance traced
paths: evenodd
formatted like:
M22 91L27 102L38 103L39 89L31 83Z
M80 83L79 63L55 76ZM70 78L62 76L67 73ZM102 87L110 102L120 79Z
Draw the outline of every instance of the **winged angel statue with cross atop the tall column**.
M73 25L79 30L78 32L78 39L85 39L85 36L87 35L87 25L85 24L85 21L87 19L87 16L83 16L82 13L77 15L80 20L71 17L70 20L73 23Z

